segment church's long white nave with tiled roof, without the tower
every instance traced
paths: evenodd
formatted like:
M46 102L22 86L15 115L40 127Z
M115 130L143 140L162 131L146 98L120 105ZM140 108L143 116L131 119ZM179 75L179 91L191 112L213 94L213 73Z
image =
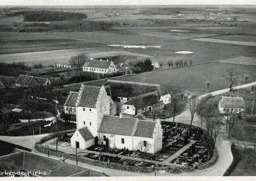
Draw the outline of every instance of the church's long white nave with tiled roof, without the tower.
M140 150L141 145L149 153L156 153L162 148L163 129L160 120L156 122L139 120L134 117L104 115L99 126L99 140L108 139L109 147Z

